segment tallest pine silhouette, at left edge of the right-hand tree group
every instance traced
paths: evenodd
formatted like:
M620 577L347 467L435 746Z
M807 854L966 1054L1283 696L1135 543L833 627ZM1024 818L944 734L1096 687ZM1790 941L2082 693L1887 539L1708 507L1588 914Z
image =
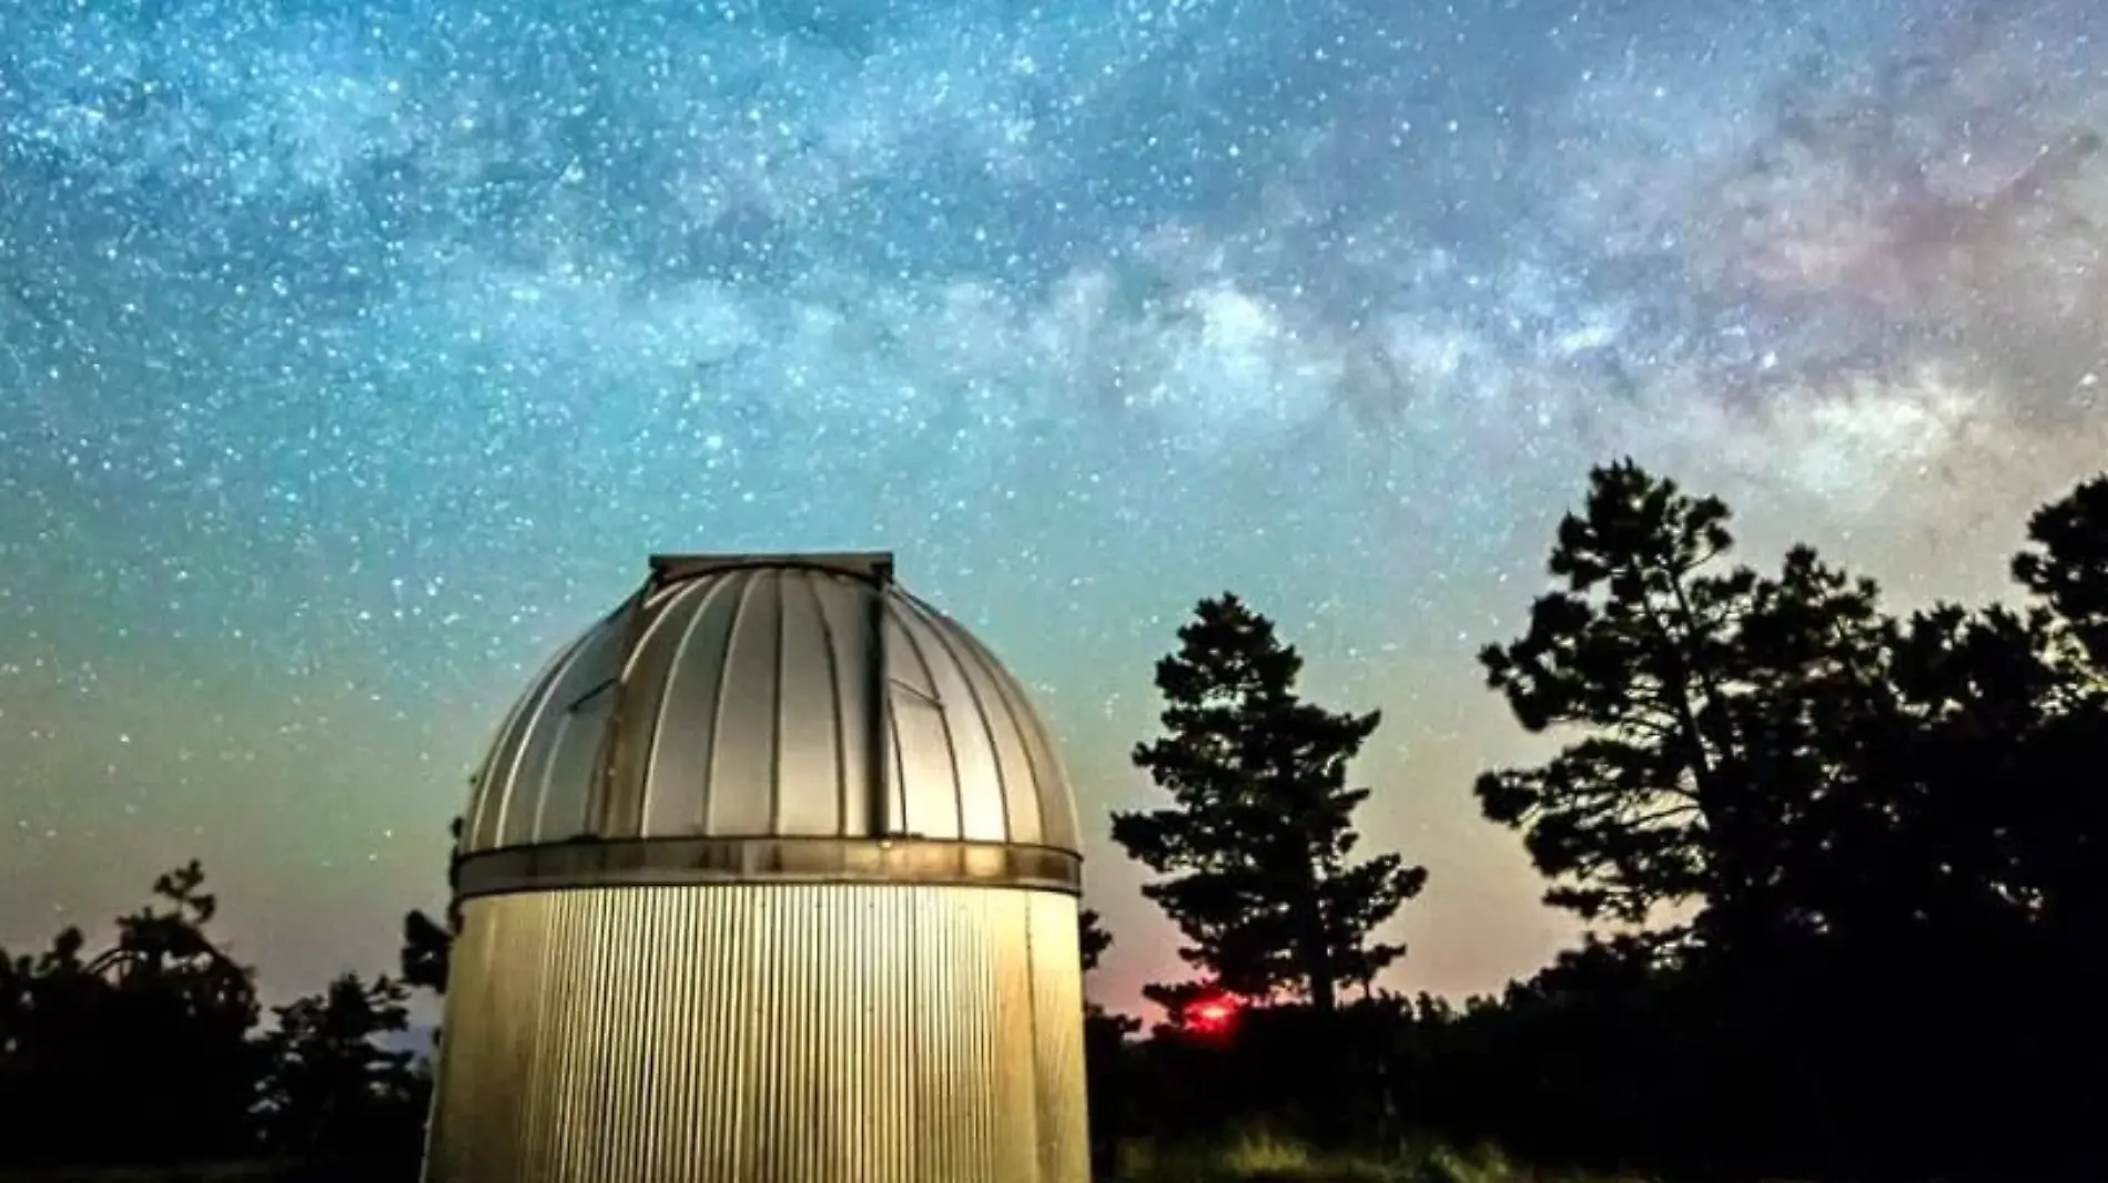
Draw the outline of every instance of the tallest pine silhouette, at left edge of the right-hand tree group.
M1756 575L1720 570L1729 509L1632 461L1589 474L1558 526L1528 631L1486 646L1486 684L1533 733L1579 739L1535 768L1478 779L1484 815L1524 834L1545 901L1638 924L1754 890L1754 817L1737 737L1735 627Z

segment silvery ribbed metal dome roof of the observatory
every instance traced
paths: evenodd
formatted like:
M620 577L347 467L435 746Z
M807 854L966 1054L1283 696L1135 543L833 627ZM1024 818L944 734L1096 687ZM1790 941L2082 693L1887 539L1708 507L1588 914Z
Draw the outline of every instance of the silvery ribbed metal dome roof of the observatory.
M656 556L512 707L460 897L713 880L1081 882L1024 690L892 556Z

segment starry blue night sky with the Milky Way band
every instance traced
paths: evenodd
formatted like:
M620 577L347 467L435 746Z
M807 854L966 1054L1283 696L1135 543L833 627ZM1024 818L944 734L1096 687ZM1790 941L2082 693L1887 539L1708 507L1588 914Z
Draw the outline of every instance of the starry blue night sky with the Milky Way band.
M2108 467L2091 0L0 4L0 945L200 857L394 966L512 695L653 549L883 547L1105 840L1206 594L1383 707L1391 983L1570 939L1471 653L1632 453L1897 604Z

